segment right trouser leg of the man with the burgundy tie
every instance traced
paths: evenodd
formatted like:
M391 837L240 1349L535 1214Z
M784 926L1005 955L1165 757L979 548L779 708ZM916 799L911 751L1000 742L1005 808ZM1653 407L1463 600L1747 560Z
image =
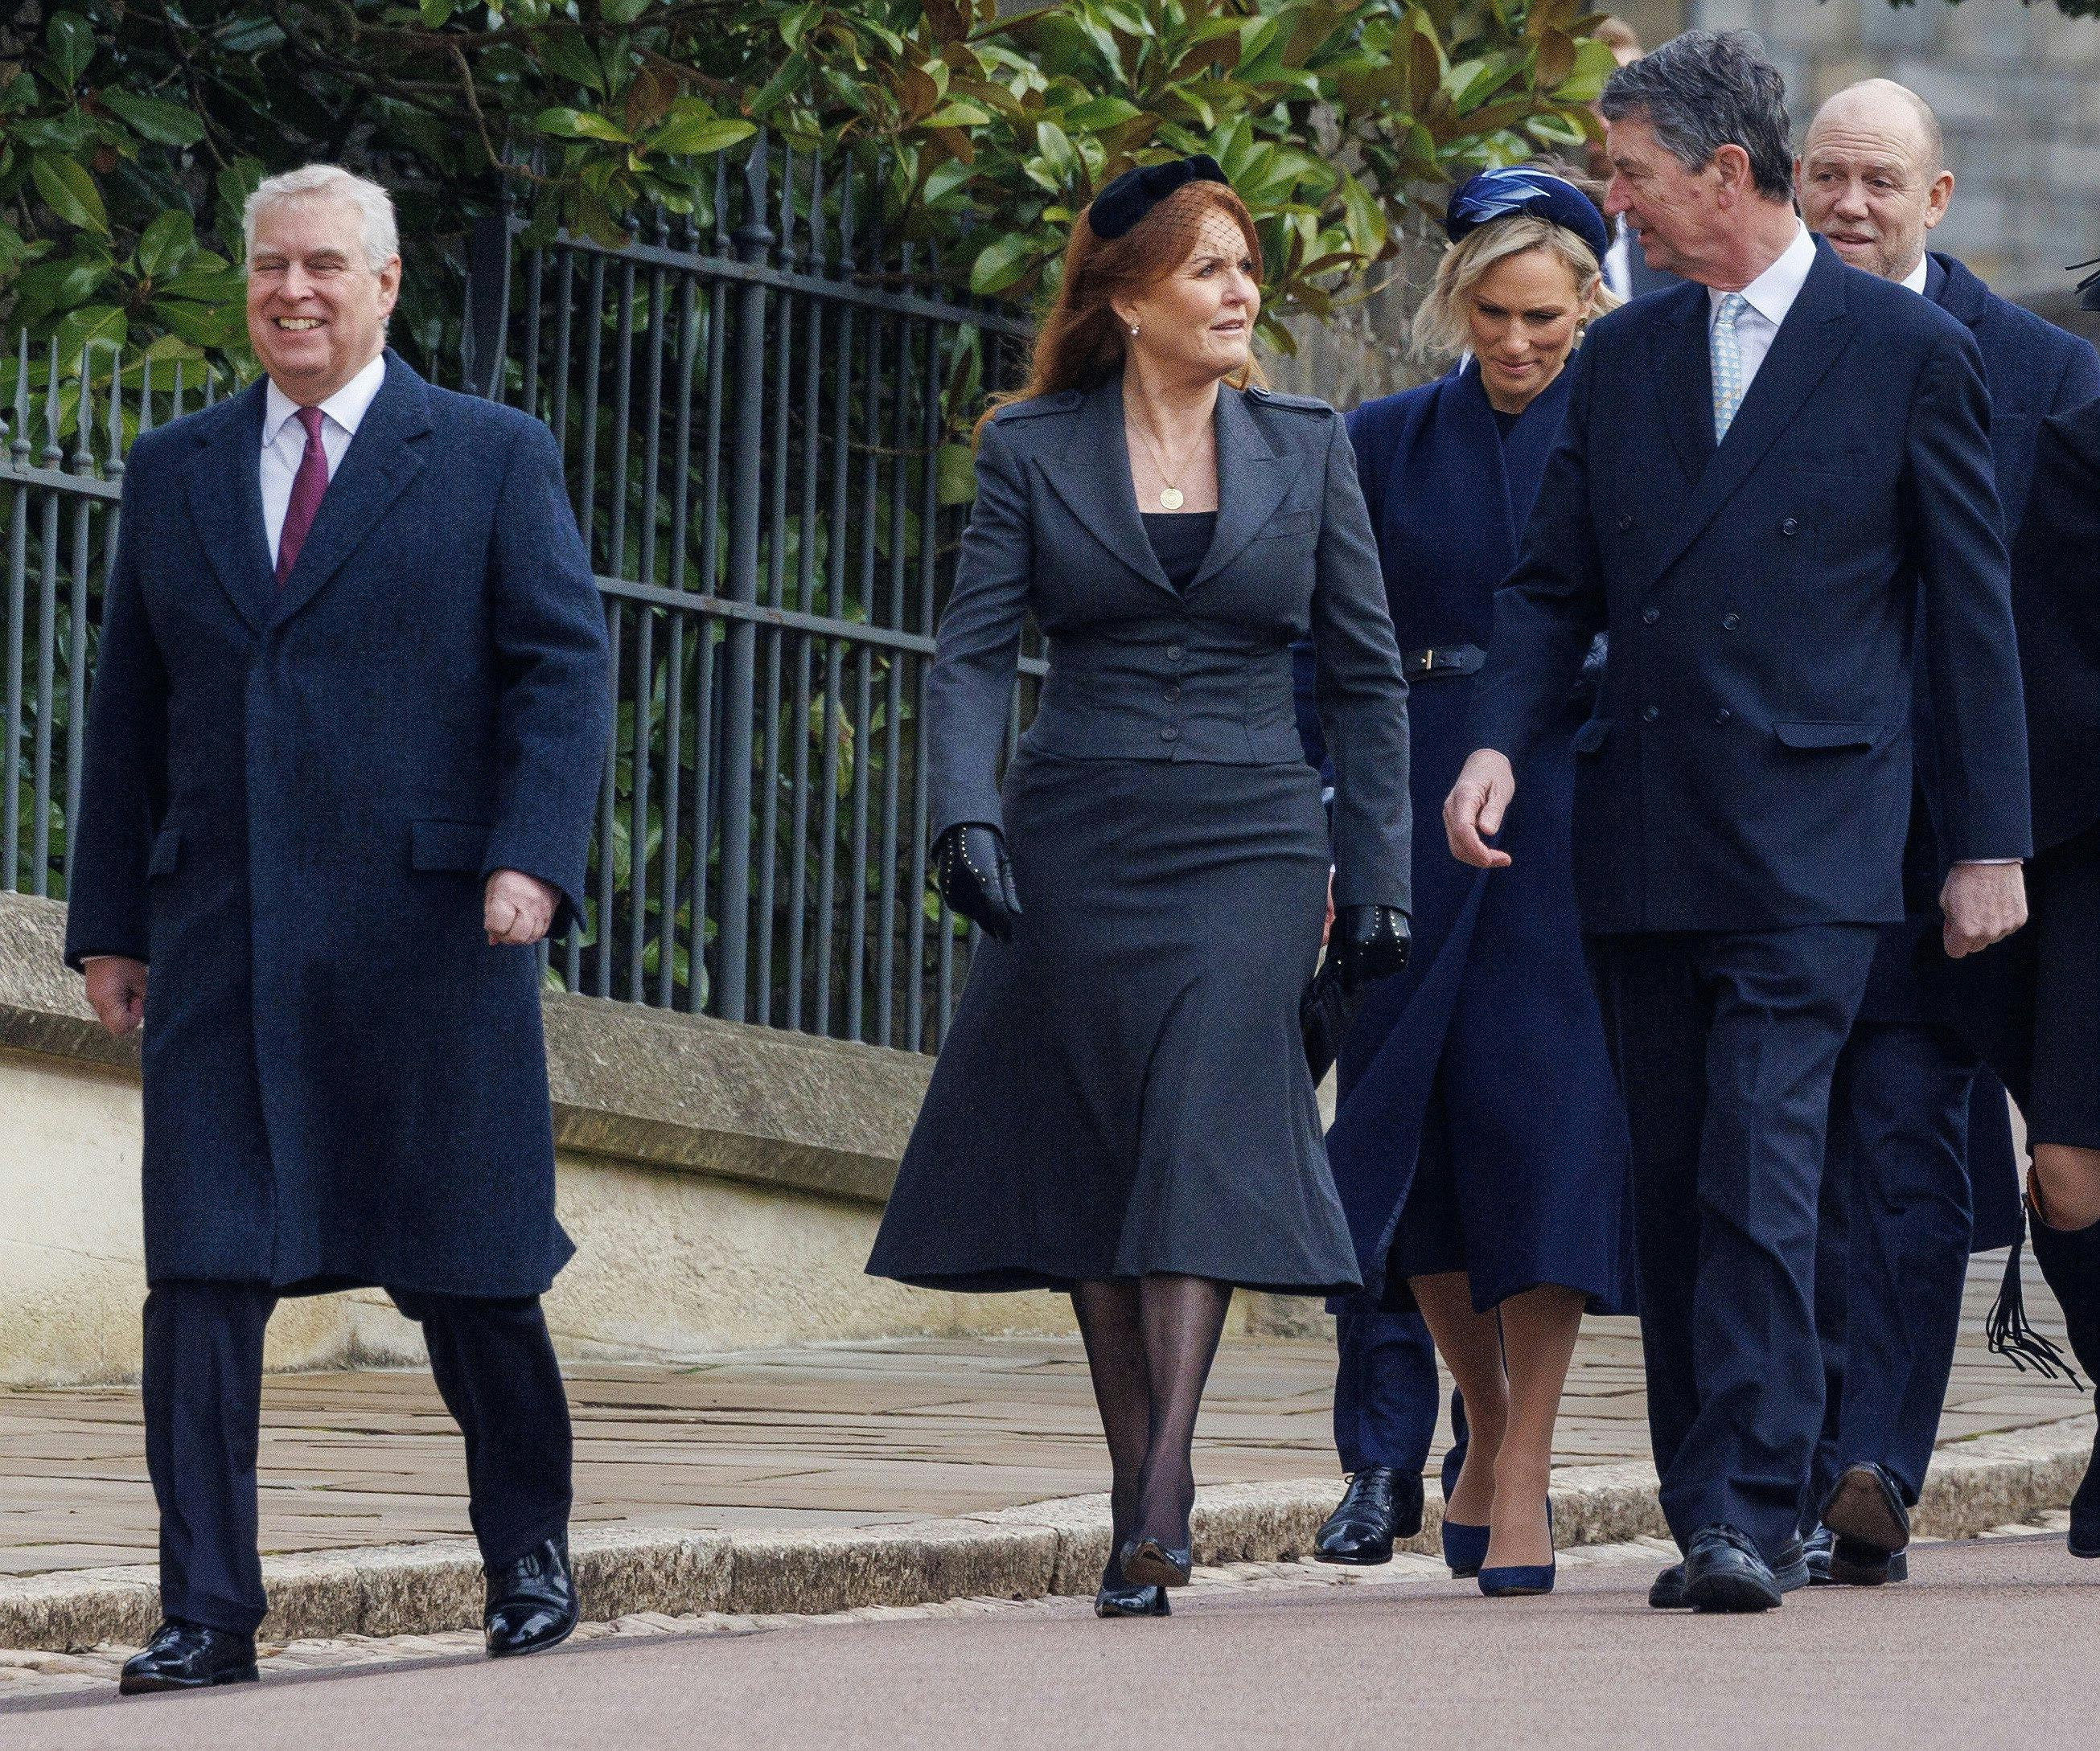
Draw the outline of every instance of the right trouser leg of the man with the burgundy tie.
M422 1327L439 1396L466 1438L468 1518L489 1568L569 1528L569 1398L538 1295L388 1289Z

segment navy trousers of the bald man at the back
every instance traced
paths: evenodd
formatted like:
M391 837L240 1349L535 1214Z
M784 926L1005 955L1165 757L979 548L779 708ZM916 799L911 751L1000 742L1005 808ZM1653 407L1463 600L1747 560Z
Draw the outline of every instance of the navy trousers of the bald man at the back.
M1968 1279L1970 1092L1945 1027L1863 1020L1831 1081L1816 1237L1823 1436L1810 1524L1846 1465L1886 1465L1913 1505L1932 1463Z

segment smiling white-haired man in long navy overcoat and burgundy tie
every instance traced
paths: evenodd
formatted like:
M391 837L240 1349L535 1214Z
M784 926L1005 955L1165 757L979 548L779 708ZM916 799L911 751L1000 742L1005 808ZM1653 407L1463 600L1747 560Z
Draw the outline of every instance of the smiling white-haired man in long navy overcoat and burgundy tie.
M561 1640L571 1253L533 945L580 905L607 657L552 435L384 351L386 193L248 206L267 372L124 470L67 964L143 1022L147 1465L126 1690L250 1680L262 1329L384 1287L466 1436L489 1652Z

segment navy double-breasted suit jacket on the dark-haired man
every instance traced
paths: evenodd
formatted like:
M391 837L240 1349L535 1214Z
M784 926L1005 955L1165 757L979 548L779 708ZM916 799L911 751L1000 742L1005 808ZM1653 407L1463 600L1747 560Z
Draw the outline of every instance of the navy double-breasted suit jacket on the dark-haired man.
M1819 239L1716 445L1707 317L1707 290L1680 286L1590 325L1472 739L1529 752L1609 632L1575 737L1583 928L1894 924L1913 651L1940 857L2029 850L1982 359L1947 311Z

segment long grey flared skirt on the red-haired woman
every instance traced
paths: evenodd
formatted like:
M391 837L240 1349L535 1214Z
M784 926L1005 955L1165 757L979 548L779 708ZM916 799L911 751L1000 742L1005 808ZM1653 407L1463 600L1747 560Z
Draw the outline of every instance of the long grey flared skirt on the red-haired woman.
M1025 750L1004 817L1023 917L976 947L869 1272L1354 1287L1298 1037L1327 880L1312 771Z

